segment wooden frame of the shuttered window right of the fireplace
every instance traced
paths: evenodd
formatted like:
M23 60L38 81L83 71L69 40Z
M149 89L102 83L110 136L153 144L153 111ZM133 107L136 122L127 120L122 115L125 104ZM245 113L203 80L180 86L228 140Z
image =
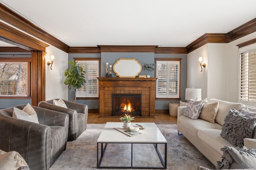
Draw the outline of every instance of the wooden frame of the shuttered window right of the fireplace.
M156 77L158 78L158 75L157 75L157 61L166 61L166 62L169 62L169 61L178 61L179 62L179 70L178 70L178 81L179 81L179 85L178 85L178 97L173 97L173 98L170 98L170 97L167 97L168 94L166 94L166 97L157 97L157 93L158 93L158 80L156 80L156 100L180 100L180 80L181 80L181 58L155 58L155 75Z

